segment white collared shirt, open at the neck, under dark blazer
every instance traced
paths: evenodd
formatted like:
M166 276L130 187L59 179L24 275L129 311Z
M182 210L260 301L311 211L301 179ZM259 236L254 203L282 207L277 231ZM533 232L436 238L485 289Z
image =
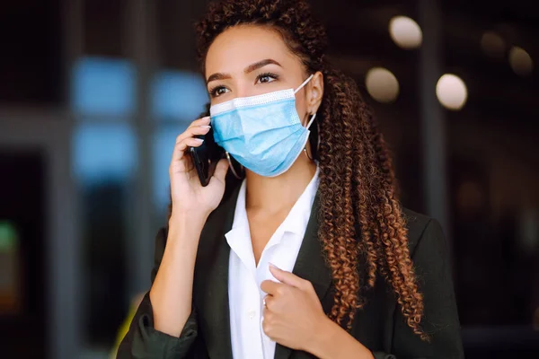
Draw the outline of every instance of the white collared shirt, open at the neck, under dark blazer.
M234 223L225 234L231 249L228 300L234 359L273 359L275 356L275 342L262 329L262 299L266 293L262 292L261 283L266 279L277 281L270 273L269 263L289 272L294 268L318 189L318 172L316 168L313 179L262 250L258 267L255 266L252 252L251 232L245 211L246 182L243 180L234 211Z

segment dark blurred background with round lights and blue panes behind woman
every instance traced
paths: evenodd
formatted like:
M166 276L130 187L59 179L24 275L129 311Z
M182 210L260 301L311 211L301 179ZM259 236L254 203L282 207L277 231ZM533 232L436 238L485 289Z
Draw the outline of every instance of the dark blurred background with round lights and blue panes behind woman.
M467 357L539 357L536 2L312 3L404 206L444 226ZM149 288L174 138L208 101L206 4L0 4L3 358L106 358Z

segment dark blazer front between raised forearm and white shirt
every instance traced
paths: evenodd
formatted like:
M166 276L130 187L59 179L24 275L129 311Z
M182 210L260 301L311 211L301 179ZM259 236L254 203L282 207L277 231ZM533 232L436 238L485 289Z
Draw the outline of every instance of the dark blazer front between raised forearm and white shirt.
M193 294L199 311L199 330L203 333L210 358L232 358L228 308L230 247L225 233L232 228L238 192L239 186L208 217L200 234Z

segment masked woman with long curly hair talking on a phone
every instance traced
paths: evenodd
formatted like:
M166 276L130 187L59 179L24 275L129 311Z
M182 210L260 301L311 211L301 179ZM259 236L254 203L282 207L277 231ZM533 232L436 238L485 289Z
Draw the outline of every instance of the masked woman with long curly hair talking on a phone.
M400 206L305 1L222 1L197 30L211 119L177 138L153 285L118 357L463 357L440 226ZM200 186L185 151L210 127L244 180L224 159Z

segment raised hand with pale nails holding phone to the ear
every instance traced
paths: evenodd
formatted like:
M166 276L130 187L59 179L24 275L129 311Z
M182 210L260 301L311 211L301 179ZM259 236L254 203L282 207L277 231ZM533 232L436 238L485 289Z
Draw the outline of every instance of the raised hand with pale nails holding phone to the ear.
M197 170L187 153L189 147L198 147L202 140L198 135L209 131L209 117L199 118L176 138L169 168L171 178L172 216L178 214L209 215L221 202L225 193L225 175L228 162L220 160L207 187L200 184Z

